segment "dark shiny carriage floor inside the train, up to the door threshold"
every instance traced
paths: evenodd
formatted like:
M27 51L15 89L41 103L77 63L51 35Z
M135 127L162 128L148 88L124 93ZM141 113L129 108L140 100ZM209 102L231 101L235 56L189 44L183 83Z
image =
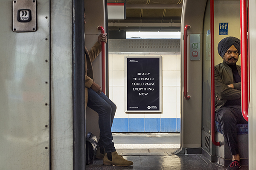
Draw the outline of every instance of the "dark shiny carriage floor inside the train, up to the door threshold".
M153 152L148 153L145 152L146 150L136 149L116 151L134 164L129 167L106 166L102 164L102 160L94 160L93 164L86 165L86 170L226 170L227 168L209 162L202 154L175 155L162 149L158 152L157 149L151 150ZM248 166L242 165L239 170L248 170Z

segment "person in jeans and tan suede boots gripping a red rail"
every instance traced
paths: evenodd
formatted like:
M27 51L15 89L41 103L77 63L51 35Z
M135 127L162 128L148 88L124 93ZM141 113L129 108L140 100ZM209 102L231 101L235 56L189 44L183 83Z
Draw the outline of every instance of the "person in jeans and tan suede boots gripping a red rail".
M85 18L85 14L84 14ZM85 19L84 19L84 23ZM102 93L101 87L93 80L92 62L101 52L101 43L107 42L107 34L100 34L97 42L90 49L85 48L85 99L86 106L99 114L99 147L96 153L97 159L103 159L105 165L129 166L132 161L127 161L116 153L112 142L111 126L116 113L116 105Z

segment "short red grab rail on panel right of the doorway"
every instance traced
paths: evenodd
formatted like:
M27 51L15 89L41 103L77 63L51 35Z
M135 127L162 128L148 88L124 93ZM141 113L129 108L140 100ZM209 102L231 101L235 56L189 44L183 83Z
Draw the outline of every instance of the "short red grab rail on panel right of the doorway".
M188 29L190 29L189 25L186 25L184 28L184 98L186 100L190 99L190 96L188 96L188 88L187 88L187 74L188 74Z

